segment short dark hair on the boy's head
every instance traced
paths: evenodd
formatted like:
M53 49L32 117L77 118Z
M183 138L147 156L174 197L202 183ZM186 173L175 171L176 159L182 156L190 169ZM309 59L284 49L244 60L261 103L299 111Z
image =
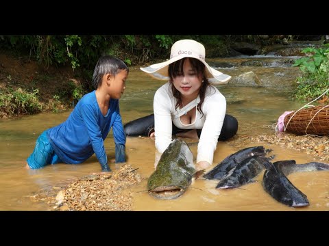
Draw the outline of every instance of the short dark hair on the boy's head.
M121 70L129 72L127 65L117 57L112 55L104 55L97 61L93 74L93 86L97 89L101 86L101 79L104 74L111 74L115 77Z

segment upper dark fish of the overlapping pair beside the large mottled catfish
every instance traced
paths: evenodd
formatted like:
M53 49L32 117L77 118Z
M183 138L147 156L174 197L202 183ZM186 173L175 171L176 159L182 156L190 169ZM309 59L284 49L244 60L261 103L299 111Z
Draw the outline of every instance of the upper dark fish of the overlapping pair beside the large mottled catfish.
M232 168L236 167L238 163L241 163L241 161L250 156L265 156L270 151L271 150L265 150L264 146L254 146L239 150L238 152L226 157L226 159L221 161L221 163L219 163L216 167L204 174L203 178L208 180L221 180L230 172Z

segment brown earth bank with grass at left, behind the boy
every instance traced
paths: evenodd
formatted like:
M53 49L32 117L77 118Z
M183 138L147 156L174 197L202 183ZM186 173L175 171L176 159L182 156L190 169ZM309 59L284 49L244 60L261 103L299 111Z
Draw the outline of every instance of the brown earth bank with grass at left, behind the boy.
M44 68L28 57L0 54L0 68L0 118L70 109L83 82L72 68Z

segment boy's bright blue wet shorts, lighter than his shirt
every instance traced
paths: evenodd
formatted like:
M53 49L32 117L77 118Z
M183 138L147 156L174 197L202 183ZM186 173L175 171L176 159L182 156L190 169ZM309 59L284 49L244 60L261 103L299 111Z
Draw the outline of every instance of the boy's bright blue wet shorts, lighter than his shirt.
M36 147L26 161L31 169L38 169L45 167L45 165L62 162L49 143L47 130L36 139Z

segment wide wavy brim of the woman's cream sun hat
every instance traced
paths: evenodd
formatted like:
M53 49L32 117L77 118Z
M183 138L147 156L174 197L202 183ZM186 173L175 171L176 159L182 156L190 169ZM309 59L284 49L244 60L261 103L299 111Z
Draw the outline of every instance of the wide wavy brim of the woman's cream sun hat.
M223 72L219 72L215 70L214 68L210 68L210 66L204 61L203 59L199 59L194 56L189 56L189 55L184 55L184 56L176 56L168 61L160 62L158 64L153 64L151 66L148 66L146 68L141 68L143 72L147 72L149 75L154 77L155 79L161 79L161 80L169 80L169 75L168 75L168 66L169 64L172 64L175 61L178 61L179 59L182 59L184 57L191 57L198 59L201 61L204 66L206 66L206 78L208 81L212 84L215 85L222 85L222 84L227 84L228 81L232 78L228 74L223 74Z

